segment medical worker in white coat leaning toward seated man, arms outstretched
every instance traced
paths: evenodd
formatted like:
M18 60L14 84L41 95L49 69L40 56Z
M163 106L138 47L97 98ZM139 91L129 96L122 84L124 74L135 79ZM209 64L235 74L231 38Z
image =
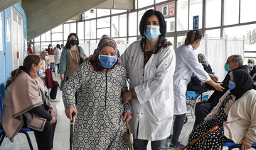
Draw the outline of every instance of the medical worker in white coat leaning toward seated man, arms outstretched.
M182 148L183 144L178 142L181 129L186 117L186 89L188 82L191 80L192 73L196 77L206 83L209 83L216 90L222 91L224 88L220 86L222 83L215 83L218 77L208 74L202 64L198 62L198 54L196 49L201 42L202 34L199 30L188 30L186 34L185 44L181 45L175 51L176 69L174 73L174 133L171 140L171 148ZM212 80L213 79L213 80Z

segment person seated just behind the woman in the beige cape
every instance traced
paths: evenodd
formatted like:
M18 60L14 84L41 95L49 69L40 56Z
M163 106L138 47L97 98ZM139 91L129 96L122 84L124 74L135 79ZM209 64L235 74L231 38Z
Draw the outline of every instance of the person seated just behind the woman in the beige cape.
M50 67L50 59L48 56L48 52L42 52L41 59L42 59L43 67L44 67L43 76L41 79L43 80L44 86L49 86L46 84L46 78L49 77L49 76L46 76L46 69L49 69L49 67ZM50 101L58 101L58 99L56 99L57 91L58 91L58 84L55 83L53 85L53 87L51 87L51 90L50 90Z

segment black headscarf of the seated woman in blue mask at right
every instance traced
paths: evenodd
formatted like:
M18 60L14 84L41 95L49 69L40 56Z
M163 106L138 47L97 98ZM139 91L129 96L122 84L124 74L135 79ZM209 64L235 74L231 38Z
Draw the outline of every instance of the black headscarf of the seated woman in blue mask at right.
M253 80L247 69L235 69L232 71L235 88L230 90L230 93L233 94L238 100L244 93L253 88Z

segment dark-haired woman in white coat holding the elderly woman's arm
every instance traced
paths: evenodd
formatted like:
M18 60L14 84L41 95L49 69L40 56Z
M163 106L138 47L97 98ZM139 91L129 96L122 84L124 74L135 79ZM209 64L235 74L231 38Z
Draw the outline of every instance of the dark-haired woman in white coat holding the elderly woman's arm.
M174 117L175 52L165 39L166 23L159 11L144 13L139 32L142 40L129 45L120 62L129 74L130 91L123 100L132 101L134 150L146 149L149 140L152 150L166 150Z

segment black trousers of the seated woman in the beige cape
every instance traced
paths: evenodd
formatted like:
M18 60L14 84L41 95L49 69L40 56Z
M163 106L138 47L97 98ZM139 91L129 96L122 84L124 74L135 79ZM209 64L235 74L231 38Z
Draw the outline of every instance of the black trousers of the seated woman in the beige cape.
M50 121L46 121L46 125L43 127L43 131L34 130L38 150L53 149L53 137L56 125L57 120L53 125L50 124Z

